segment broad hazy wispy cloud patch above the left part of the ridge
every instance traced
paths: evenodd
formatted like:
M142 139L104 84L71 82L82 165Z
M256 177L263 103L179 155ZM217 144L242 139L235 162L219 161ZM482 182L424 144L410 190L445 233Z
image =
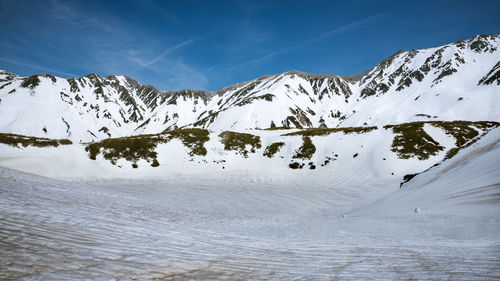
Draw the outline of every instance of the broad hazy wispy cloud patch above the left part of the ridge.
M84 64L92 65L89 71L128 75L164 90L206 87L207 77L197 65L183 61L181 51L207 35L192 36L184 41L174 34L169 38L159 37L105 10L99 10L96 14L80 9L79 2L52 1L53 17L65 23L69 34L78 32L82 34L81 37L85 37L80 52L85 52L86 59L90 60ZM144 5L143 1L137 1L136 4L141 7ZM159 8L154 2L146 2L146 6L151 6L149 8L155 11ZM165 12L168 11L161 10L161 13ZM165 45L165 41L176 42L173 40L178 40L178 43Z

